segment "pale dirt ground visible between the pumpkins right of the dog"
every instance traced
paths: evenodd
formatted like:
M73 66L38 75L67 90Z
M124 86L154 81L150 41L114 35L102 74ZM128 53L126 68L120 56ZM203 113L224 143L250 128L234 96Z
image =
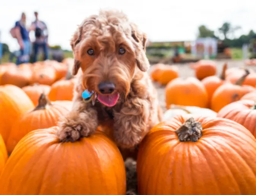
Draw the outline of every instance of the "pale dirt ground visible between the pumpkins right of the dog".
M249 69L253 69L254 71L256 71L256 66L245 66L245 63L243 60L218 60L216 61L217 64L217 75L221 74L221 70L222 70L222 66L224 63L228 63L228 68L232 68L232 67L246 67ZM182 78L186 78L189 76L194 76L194 70L191 69L189 67L189 63L186 64L175 64L176 66L179 67L179 75ZM154 65L151 66L151 68L149 69L149 72L151 71L151 69L153 68ZM165 94L164 94L164 88L165 86L161 86L158 83L154 83L157 91L158 91L158 99L159 99L159 103L162 107L163 110L165 109Z

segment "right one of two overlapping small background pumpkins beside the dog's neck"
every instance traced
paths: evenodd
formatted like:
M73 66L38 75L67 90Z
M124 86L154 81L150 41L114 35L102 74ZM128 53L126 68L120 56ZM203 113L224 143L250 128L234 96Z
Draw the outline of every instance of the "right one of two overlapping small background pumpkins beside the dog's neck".
M158 82L160 85L167 85L171 80L179 77L178 66L165 65L159 71Z

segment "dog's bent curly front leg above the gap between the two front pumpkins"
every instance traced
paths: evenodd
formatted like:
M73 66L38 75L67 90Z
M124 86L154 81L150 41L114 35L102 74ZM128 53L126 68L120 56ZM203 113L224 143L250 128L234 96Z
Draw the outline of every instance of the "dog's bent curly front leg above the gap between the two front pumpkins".
M149 102L138 97L128 99L120 112L114 112L115 142L124 148L138 145L149 131Z

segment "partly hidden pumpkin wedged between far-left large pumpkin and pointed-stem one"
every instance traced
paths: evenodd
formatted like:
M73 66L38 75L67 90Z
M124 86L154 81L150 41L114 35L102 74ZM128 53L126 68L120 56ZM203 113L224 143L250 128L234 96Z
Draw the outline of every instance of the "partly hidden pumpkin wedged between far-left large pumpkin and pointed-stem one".
M32 100L33 104L36 106L38 104L38 99L42 93L48 96L49 91L51 90L51 86L35 83L34 85L22 87L22 90L28 95L28 97Z

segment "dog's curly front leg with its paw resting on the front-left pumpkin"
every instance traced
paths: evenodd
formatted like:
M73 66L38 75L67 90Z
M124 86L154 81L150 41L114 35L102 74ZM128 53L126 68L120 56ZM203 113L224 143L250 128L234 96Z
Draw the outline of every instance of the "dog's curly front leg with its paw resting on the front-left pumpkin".
M74 102L68 115L59 123L58 137L63 142L74 142L87 137L98 127L97 111L83 101Z

